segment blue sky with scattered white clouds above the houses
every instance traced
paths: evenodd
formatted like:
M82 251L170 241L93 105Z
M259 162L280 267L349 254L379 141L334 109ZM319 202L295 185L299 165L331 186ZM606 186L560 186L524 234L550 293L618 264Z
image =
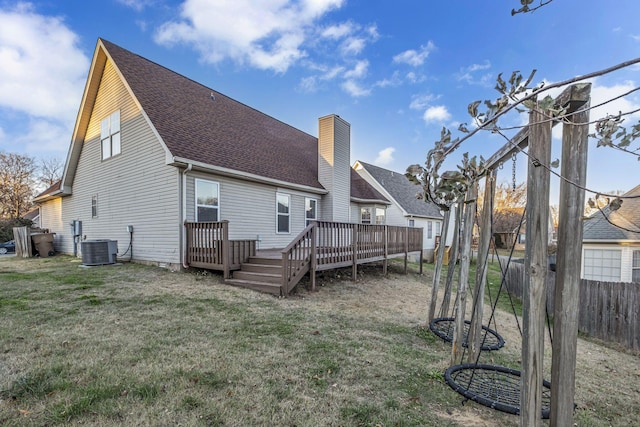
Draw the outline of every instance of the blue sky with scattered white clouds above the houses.
M554 0L512 16L519 6L519 0L0 0L0 151L66 160L98 38L314 136L319 117L337 114L351 124L351 163L398 172L424 164L443 127L454 137L463 136L459 124L472 128L468 104L495 100L500 73L526 77L536 69L533 83L549 84L640 57L637 0ZM640 66L589 81L597 105L637 88ZM591 119L638 108L634 92L592 110ZM635 113L625 123L639 119ZM516 127L505 131L513 135L526 122L526 114L511 114L501 125ZM505 143L479 132L445 169L455 169L463 153L488 158ZM518 182L526 169L525 156L517 156ZM499 182L511 182L511 174L509 162ZM638 184L636 157L591 141L588 188L628 191ZM551 204L557 186L552 179Z

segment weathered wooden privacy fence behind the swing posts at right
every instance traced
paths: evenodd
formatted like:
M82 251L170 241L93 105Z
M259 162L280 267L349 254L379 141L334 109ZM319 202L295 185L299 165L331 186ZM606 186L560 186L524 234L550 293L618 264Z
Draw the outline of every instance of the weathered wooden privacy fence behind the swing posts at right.
M503 268L506 264L501 260ZM511 262L505 285L522 298L524 264ZM553 313L555 273L547 272L547 306ZM578 329L592 337L640 350L640 283L600 282L582 279Z

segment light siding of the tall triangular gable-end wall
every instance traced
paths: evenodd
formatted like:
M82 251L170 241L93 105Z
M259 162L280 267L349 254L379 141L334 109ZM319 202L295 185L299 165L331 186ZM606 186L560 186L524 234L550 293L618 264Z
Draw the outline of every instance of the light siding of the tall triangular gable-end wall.
M119 155L101 160L100 122L120 109ZM165 151L113 65L107 61L78 161L71 196L62 199L61 249L73 251L69 224L82 221L83 237L118 241L118 253L129 245L133 258L179 264L180 211L178 170L165 163ZM97 217L91 200L97 196ZM125 257L128 257L127 254Z

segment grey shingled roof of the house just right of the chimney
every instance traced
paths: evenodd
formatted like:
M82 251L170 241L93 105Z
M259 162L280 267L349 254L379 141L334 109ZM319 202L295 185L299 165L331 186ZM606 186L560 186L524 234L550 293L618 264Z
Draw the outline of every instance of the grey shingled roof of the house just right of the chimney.
M358 163L389 193L407 215L442 218L437 205L416 197L422 188L409 181L404 174L362 161Z

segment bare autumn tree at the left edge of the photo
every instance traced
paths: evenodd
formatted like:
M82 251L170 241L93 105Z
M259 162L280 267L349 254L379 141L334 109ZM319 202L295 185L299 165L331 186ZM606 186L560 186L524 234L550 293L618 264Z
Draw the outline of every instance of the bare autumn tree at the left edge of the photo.
M0 218L20 218L29 210L35 172L32 157L0 152Z

